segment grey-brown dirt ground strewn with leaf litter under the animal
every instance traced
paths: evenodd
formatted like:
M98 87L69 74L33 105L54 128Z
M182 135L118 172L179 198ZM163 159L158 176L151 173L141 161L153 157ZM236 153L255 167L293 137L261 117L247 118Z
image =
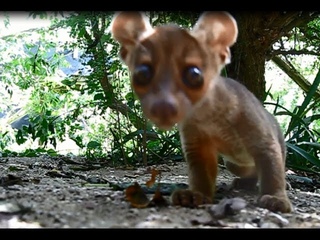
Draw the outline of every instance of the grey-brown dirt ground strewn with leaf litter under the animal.
M115 168L82 158L0 158L1 228L319 228L317 175L287 172L294 211L258 208L257 192L229 188L233 176L219 169L216 202L198 208L171 206L174 188L187 187L184 162ZM160 172L152 176L152 169ZM153 187L146 183L156 177ZM126 189L138 183L148 205L137 207ZM160 184L162 200L152 202ZM159 192L158 192L159 193ZM138 199L140 200L140 199ZM145 199L144 199L145 200ZM151 204L153 203L153 204ZM168 204L169 203L169 204ZM167 204L167 205L166 205Z

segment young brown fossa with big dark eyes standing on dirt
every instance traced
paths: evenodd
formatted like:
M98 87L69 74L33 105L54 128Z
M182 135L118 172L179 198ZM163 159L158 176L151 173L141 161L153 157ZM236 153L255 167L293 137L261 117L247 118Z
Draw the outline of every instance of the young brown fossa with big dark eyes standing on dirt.
M239 177L234 186L259 183L260 207L292 211L285 142L276 119L247 88L220 76L238 35L230 14L204 12L188 31L153 28L144 13L120 12L111 32L145 116L163 130L178 124L189 189L172 194L174 205L212 203L220 154Z

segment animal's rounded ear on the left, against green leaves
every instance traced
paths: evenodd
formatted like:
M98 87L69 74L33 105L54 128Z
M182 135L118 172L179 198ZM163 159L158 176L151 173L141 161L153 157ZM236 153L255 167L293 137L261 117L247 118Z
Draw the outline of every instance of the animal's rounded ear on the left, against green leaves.
M149 20L142 12L119 12L111 22L111 33L120 45L120 57L124 62L128 52L138 42L154 32Z

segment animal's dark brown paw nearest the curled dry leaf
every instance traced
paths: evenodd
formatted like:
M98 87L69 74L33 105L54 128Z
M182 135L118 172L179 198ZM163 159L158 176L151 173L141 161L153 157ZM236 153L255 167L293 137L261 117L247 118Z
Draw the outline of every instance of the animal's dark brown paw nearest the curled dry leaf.
M193 208L202 204L212 203L212 198L191 190L177 190L172 193L171 202L172 205Z

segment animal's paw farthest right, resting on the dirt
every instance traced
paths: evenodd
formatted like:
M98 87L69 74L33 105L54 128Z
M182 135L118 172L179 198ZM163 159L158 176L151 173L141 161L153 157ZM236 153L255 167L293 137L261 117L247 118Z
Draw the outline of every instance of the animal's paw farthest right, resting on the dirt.
M285 196L263 195L258 199L258 205L272 212L289 213L292 211L291 202Z

